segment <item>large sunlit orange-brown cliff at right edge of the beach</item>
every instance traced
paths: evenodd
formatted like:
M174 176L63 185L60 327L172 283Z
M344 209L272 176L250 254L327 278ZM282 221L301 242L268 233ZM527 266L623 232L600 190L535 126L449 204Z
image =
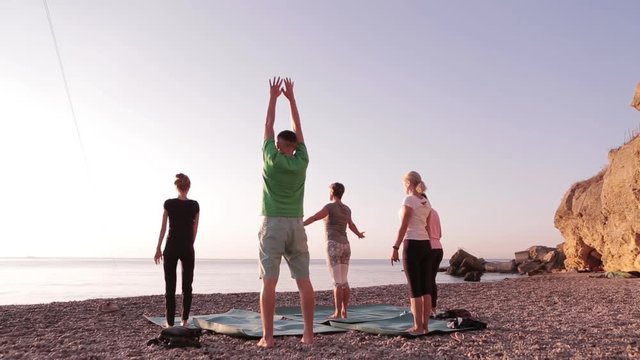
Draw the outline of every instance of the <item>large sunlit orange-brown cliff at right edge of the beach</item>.
M640 136L609 152L609 165L566 192L555 215L567 269L640 270Z

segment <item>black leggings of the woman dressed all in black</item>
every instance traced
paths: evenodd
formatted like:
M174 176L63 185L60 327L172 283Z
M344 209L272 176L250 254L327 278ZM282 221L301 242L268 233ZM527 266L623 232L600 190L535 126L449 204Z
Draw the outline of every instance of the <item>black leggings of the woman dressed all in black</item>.
M165 301L167 306L167 324L173 326L176 314L176 267L178 260L182 264L182 320L189 319L191 299L193 298L191 284L193 283L193 269L195 267L195 253L193 248L180 251L164 249L164 282Z

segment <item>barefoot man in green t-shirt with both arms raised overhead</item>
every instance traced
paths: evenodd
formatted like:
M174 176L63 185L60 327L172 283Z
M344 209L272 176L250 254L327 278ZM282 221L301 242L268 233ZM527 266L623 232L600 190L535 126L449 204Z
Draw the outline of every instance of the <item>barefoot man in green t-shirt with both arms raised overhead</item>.
M284 88L282 85L284 84ZM276 284L280 275L280 261L284 256L291 277L300 291L300 305L304 319L302 342L313 343L313 310L315 299L309 279L309 249L302 224L304 182L309 164L304 145L300 115L293 96L293 81L273 78L269 80L270 99L262 146L262 227L260 239L260 315L262 339L258 346L272 347L273 315L276 305ZM285 130L274 140L273 124L276 101L280 94L289 99L293 131Z

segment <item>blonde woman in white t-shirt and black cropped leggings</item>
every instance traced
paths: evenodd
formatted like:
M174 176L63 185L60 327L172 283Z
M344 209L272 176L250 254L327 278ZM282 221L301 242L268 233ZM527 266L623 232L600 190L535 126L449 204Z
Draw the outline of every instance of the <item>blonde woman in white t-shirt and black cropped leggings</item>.
M429 331L431 314L431 246L427 233L427 217L431 211L429 199L422 196L426 191L420 174L410 171L404 176L407 196L400 208L400 228L391 253L391 265L399 261L398 250L402 243L402 263L407 282L411 289L411 312L413 327L407 329L412 334Z

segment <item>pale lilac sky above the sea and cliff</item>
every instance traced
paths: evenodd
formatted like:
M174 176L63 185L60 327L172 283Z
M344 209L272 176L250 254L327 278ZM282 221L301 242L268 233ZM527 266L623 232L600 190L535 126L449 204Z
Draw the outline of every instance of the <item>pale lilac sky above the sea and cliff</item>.
M255 258L274 75L296 83L305 215L342 182L354 258L390 256L409 170L445 258L555 246L565 191L640 127L637 1L48 4L86 162L42 1L0 0L0 257L151 258L183 172L196 256Z

